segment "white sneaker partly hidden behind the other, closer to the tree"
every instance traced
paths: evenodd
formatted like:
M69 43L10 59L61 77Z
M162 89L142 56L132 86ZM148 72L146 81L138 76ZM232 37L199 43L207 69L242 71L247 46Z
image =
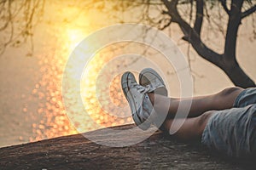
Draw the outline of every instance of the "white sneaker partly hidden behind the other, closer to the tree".
M151 68L143 69L143 71L140 72L139 83L144 87L149 85L149 93L160 94L164 96L168 95L164 80L156 71Z

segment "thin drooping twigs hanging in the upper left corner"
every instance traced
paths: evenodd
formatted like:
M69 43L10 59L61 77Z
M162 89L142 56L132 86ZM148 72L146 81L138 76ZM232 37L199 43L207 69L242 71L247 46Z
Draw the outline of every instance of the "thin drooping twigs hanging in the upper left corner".
M23 42L31 41L32 28L43 14L44 0L0 0L0 54L9 45L17 47Z

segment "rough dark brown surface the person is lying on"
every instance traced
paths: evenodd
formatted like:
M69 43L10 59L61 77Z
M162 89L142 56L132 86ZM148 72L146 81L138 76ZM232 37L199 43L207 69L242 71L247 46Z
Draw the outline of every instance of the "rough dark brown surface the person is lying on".
M134 125L111 127L129 129ZM115 131L85 133L90 137L114 136ZM122 141L145 135L129 133ZM253 158L254 159L254 158ZM255 159L254 159L255 160ZM76 134L0 149L0 169L256 169L253 161L212 154L201 144L188 144L159 131L138 144L109 147Z

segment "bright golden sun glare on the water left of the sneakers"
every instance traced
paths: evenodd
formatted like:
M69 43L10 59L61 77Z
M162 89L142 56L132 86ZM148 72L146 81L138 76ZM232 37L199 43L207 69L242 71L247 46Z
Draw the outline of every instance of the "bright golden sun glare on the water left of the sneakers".
M44 97L46 102L40 103L38 107L38 114L44 115L44 119L40 123L34 123L33 132L36 133L36 138L30 140L54 138L78 131L84 133L99 128L99 125L110 127L131 122L131 116L125 116L125 110L115 111L125 104L125 98L119 88L120 75L111 77L113 75L109 76L102 72L99 76L104 65L114 58L113 52L119 48L104 48L99 52L95 51L96 54L91 56L97 47L96 42L85 40L91 28L86 30L74 24L58 29L60 31L57 41L52 44L52 47L55 47L55 54L49 55L49 58L39 58L43 77L38 86L42 86L42 90L37 86L33 94L38 94L40 98ZM76 56L75 59L73 55ZM71 61L71 68L66 72L69 77L68 85L74 87L74 83L80 82L80 89L67 88L65 95L69 102L64 104L61 86L67 61ZM89 62L85 65L86 61ZM118 65L109 68L111 73L118 70ZM43 89L46 89L46 92ZM77 94L81 95L84 108L76 107ZM71 111L67 111L67 108ZM84 109L88 114L84 113ZM23 111L26 111L26 108ZM118 116L113 113L118 113Z

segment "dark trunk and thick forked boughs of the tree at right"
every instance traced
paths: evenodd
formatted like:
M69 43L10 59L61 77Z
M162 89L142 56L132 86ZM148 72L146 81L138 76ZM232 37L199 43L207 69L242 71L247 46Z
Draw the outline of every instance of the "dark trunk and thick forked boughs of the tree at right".
M241 11L244 1L232 0L230 3L230 8L227 6L226 0L220 0L222 7L224 8L226 14L229 16L228 25L226 28L225 43L224 43L224 53L218 54L214 52L211 48L201 41L201 26L204 19L203 8L204 1L196 1L196 17L194 27L190 26L177 11L178 0L173 0L171 2L167 0L162 0L166 6L166 11L163 14L171 16L170 22L175 22L180 26L183 31L183 39L191 43L195 51L204 59L207 59L212 64L217 65L222 69L230 80L239 87L247 88L254 87L255 83L247 76L247 74L242 71L240 65L236 60L236 37L239 26L241 25L241 20L247 17L249 14L253 14L256 10L256 5L252 5L245 11ZM190 1L193 3L193 1ZM252 2L247 1L247 3L252 4Z

